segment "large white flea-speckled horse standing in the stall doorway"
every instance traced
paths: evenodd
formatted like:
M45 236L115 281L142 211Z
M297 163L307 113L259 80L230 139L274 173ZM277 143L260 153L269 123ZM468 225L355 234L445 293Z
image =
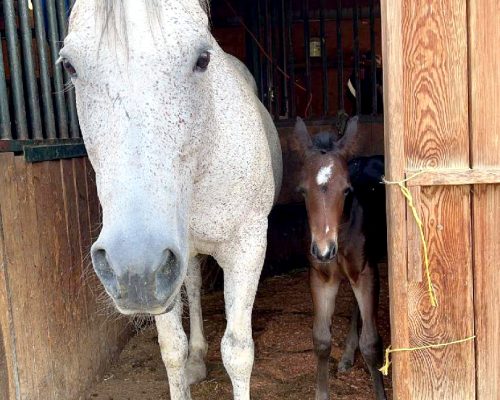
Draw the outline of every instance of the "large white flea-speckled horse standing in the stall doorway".
M185 400L206 376L197 257L215 257L222 359L234 398L249 399L251 312L281 151L249 72L210 34L206 1L78 0L60 56L103 208L97 275L120 312L155 315L170 396Z

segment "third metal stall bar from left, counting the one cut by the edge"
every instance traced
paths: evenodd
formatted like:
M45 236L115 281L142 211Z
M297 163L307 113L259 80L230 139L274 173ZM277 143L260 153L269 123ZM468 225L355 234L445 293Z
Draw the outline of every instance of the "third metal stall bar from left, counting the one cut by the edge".
M26 102L30 117L30 128L34 139L42 139L42 118L40 116L38 85L35 76L35 63L33 60L33 35L31 33L28 14L28 0L18 0L18 7L24 59L24 78L26 82Z

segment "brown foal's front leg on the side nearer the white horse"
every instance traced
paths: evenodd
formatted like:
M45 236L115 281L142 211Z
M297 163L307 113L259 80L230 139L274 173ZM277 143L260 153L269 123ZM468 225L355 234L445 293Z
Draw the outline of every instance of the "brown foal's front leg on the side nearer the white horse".
M340 278L334 275L325 277L311 268L311 293L314 306L313 343L317 359L316 400L328 400L329 360L332 349L332 316L335 310L335 298L340 286Z

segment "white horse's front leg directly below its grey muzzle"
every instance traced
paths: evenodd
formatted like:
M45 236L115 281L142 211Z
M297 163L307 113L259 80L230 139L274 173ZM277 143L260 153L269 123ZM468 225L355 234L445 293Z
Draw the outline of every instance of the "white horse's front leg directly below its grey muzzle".
M185 367L188 356L188 341L182 328L182 301L177 296L172 311L155 317L160 343L161 357L167 368L170 398L190 400Z

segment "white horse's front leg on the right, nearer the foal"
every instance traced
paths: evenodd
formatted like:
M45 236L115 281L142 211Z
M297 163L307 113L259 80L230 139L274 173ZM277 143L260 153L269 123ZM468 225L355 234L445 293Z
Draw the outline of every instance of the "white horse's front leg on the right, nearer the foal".
M266 251L267 219L242 229L238 239L218 249L224 270L227 326L221 343L222 361L233 384L235 400L250 399L254 361L252 308Z

